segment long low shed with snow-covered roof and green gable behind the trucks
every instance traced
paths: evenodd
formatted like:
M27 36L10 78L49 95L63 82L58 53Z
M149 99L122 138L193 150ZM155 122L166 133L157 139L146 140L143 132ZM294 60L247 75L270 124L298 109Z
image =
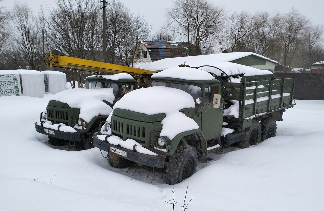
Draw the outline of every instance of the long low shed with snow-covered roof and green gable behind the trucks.
M184 64L193 67L202 65L212 65L219 62L231 62L254 67L260 70L270 70L273 72L275 65L278 62L252 52L235 52L235 53L215 53L199 56L187 56L178 58L167 58L146 64L146 69L159 71L167 68L176 67L179 64Z

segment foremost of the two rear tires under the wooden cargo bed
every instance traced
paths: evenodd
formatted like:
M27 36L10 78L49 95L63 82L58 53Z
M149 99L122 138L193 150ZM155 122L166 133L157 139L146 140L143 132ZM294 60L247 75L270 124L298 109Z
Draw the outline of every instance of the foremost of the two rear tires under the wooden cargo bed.
M245 129L244 139L236 143L239 148L248 148L261 142L261 126L259 121L253 120L252 125Z

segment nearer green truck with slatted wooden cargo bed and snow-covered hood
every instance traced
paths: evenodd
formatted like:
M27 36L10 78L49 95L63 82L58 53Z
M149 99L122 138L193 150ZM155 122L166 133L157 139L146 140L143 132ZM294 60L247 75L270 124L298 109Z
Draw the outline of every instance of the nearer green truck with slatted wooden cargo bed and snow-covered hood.
M165 168L165 182L179 183L196 171L198 161L207 162L213 150L246 148L275 136L276 121L295 105L295 81L253 69L252 75L211 66L156 73L150 88L135 90L115 104L112 135L96 134L93 144L108 152L113 167L133 161Z

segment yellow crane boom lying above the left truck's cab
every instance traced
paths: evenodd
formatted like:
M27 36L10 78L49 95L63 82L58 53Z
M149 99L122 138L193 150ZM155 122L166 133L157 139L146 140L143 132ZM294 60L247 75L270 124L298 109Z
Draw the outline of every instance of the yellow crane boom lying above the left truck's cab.
M145 77L151 76L154 74L154 71L122 66L117 64L110 64L104 62L97 62L87 59L79 59L70 56L61 56L53 53L46 53L44 56L45 63L52 67L63 67L77 70L85 71L99 71L99 72L108 72L108 73L128 73L133 77Z

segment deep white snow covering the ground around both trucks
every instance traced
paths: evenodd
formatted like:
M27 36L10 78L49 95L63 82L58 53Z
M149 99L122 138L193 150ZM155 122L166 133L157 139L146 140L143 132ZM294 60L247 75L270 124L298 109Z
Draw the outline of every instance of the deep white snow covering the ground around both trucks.
M145 167L114 169L98 148L54 149L34 123L52 95L0 98L0 210L324 210L324 101L296 100L277 136L210 154L176 184ZM105 155L105 154L104 154Z

